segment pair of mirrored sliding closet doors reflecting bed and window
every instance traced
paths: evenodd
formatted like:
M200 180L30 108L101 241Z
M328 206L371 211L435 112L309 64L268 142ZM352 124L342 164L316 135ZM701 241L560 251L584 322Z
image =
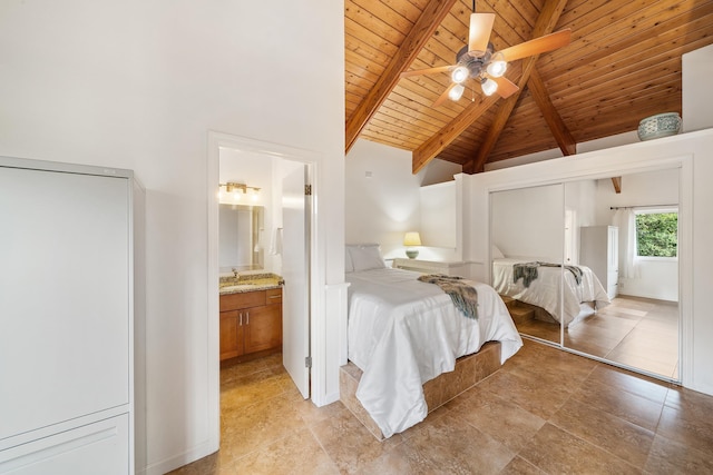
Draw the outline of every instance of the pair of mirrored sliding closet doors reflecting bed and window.
M492 285L526 337L680 380L678 169L490 194Z

